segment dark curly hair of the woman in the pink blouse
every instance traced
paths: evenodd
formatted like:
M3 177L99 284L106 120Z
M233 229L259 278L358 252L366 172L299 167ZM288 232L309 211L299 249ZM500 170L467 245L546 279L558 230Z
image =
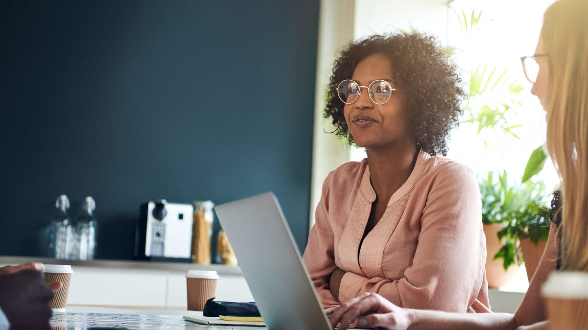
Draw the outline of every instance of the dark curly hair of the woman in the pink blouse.
M350 43L335 60L323 117L332 117L335 132L352 145L353 137L343 116L343 103L337 95L342 80L351 79L358 63L370 55L383 55L392 63L392 75L399 89L406 90L409 132L417 148L435 156L447 156L449 132L459 126L460 109L467 94L460 83L457 66L432 36L421 33L373 35Z

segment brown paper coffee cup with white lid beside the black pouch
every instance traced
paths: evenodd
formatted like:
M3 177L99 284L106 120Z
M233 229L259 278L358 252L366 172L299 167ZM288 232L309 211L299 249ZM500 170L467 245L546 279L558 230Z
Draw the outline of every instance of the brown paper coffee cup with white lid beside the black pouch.
M189 311L204 310L206 301L215 297L218 279L216 271L189 270L186 273Z

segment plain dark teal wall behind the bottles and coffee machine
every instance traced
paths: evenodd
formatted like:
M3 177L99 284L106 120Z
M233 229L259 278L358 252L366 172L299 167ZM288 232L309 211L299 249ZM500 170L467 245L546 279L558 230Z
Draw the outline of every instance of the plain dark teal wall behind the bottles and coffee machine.
M102 258L139 204L273 191L299 248L318 1L4 1L0 254L34 255L55 198L96 200Z

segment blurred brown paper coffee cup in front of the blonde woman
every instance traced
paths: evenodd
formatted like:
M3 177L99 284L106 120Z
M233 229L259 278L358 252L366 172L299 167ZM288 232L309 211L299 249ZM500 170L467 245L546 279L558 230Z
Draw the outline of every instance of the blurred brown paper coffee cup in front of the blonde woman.
M588 329L588 273L556 272L543 285L549 329Z

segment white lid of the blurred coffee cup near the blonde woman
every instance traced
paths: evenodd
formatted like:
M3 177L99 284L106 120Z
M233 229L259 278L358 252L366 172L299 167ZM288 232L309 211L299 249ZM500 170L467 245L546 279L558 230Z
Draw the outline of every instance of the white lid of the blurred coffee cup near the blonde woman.
M588 273L556 272L543 285L544 297L588 299Z

